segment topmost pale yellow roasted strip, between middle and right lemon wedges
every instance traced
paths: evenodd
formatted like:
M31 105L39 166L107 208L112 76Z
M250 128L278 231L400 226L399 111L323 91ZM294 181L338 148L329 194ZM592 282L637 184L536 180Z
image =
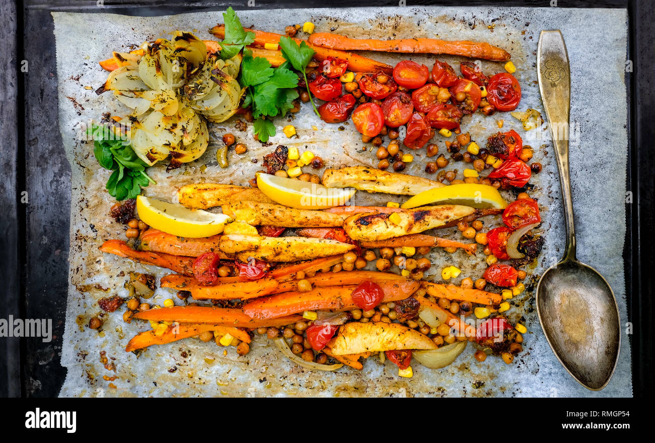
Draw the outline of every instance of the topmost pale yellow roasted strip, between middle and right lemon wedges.
M354 187L362 191L398 195L417 195L428 189L445 186L443 183L427 178L386 172L365 166L326 169L322 182L327 187Z

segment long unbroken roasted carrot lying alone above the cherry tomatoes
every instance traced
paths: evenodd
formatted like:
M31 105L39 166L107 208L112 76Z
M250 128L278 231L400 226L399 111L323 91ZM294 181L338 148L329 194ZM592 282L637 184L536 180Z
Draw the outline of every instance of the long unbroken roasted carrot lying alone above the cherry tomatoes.
M309 36L314 46L338 50L375 50L380 52L409 52L414 54L451 54L506 62L512 56L504 49L486 42L447 41L440 39L353 39L345 35L316 32Z

